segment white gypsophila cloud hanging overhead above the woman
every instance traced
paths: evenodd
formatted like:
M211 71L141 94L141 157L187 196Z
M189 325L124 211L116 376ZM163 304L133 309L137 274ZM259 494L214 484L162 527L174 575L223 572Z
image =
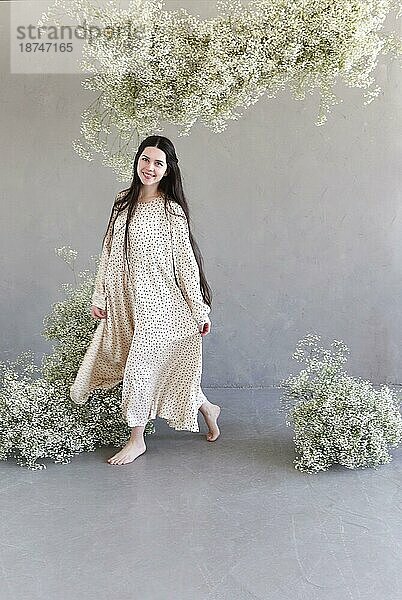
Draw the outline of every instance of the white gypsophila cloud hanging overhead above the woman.
M402 40L381 32L387 16L402 14L400 0L237 0L216 3L218 16L202 21L159 0L56 0L42 15L62 25L69 16L84 28L84 88L97 93L83 111L76 152L103 155L119 181L132 178L140 138L165 121L188 135L199 120L215 132L242 116L264 94L289 87L293 98L320 95L316 125L342 102L337 81L365 88L364 104L381 92L373 72L380 54L399 57ZM92 36L90 27L100 28ZM113 136L113 139L109 139Z

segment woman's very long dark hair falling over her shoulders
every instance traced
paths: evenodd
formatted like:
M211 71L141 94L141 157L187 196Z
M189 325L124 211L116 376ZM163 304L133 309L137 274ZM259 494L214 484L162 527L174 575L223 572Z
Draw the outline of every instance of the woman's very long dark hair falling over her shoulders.
M142 186L141 180L137 173L137 164L138 164L139 157L143 153L144 149L147 148L148 146L160 148L166 154L167 170L166 170L165 177L162 177L162 179L159 182L158 192L161 192L164 196L165 212L168 209L168 203L170 201L173 201L173 202L177 202L177 204L180 204L180 206L183 209L184 214L186 215L188 228L189 228L189 239L190 239L190 243L193 248L193 251L194 251L194 256L197 261L199 274L200 274L201 294L202 294L204 302L209 307L211 307L212 291L211 291L211 288L208 285L208 282L205 277L205 273L204 273L204 269L203 269L203 258L202 258L200 249L199 249L198 244L195 241L193 234L191 232L189 208L188 208L187 200L185 198L184 191L183 191L181 173L180 173L180 168L178 166L179 161L176 156L175 148L174 148L172 142L167 137L164 137L161 135L150 135L147 138L145 138L139 145L137 153L134 158L133 180L131 182L130 187L125 190L122 190L118 194L118 196L114 202L114 205L113 205L113 208L111 211L111 215L109 218L108 226L106 229L106 233L103 238L103 243L105 243L105 239L107 236L107 232L109 231L109 227L111 227L111 231L112 231L111 235L113 235L113 227L114 227L114 222L116 220L116 217L118 216L118 214L120 212L124 211L127 208L128 210L127 210L127 219L126 219L126 229L125 229L125 233L124 233L124 256L127 261L128 269L130 270L130 264L128 261L128 253L127 253L127 247L130 243L129 237L128 237L128 226L129 226L131 217L137 207L138 197L139 197L139 194L141 191L141 186Z

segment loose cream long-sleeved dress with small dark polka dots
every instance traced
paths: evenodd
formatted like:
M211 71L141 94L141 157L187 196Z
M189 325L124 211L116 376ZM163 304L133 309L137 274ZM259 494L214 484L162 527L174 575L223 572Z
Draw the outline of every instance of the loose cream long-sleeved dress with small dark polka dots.
M118 195L119 196L119 195ZM173 214L170 214L173 213ZM129 224L127 209L107 233L92 304L106 308L79 367L70 396L83 404L97 388L123 381L122 413L130 427L157 416L174 429L199 431L202 336L210 323L197 261L181 206L164 198L138 202Z

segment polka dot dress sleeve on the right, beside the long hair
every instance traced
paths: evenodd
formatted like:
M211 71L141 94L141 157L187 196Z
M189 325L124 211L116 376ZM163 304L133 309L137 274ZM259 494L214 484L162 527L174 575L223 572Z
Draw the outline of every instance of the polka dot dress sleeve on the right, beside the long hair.
M175 215L171 215L172 250L178 286L190 307L191 314L199 328L211 323L208 314L210 307L205 304L200 289L198 263L189 238L186 215L180 205L175 205Z

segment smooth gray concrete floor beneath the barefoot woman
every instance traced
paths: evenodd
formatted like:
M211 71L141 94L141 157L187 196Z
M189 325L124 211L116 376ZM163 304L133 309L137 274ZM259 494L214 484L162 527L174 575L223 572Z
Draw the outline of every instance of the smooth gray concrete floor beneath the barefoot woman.
M1 463L1 600L400 600L402 450L293 467L278 391L212 390L221 437L162 419L129 465Z

